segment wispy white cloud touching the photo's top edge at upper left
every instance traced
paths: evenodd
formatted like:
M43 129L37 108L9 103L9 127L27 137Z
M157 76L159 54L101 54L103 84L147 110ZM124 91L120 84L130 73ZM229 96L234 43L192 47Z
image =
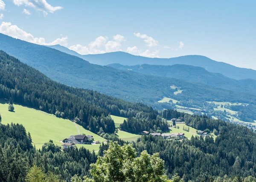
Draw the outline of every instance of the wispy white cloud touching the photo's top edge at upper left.
M36 11L43 12L46 16L48 13L54 13L57 10L63 9L61 6L52 6L46 0L13 0L16 6L27 6L35 9Z

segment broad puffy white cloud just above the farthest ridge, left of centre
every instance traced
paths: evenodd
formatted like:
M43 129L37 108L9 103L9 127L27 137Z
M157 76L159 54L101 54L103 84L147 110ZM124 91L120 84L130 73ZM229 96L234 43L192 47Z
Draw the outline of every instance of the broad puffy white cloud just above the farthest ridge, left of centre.
M99 36L94 41L88 43L87 46L76 44L70 46L69 49L78 52L81 55L99 54L105 52L121 51L122 42L125 37L122 35L114 35L113 40L108 41L108 37Z

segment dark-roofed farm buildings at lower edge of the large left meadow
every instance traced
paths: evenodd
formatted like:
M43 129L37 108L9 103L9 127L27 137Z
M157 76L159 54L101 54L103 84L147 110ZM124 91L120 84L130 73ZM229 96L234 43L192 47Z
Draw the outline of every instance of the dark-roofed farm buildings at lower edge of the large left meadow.
M93 142L93 136L91 135L71 135L69 138L62 140L63 149L75 147L76 144L91 144Z

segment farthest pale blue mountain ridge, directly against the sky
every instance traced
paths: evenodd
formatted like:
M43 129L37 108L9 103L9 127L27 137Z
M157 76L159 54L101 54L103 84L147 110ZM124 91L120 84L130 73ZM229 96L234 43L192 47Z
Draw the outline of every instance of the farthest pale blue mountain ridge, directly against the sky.
M186 55L177 58L146 58L142 56L131 55L127 52L108 52L96 55L80 55L66 47L55 45L49 46L54 49L66 52L67 54L78 56L93 64L108 65L108 64L122 64L133 66L137 64L152 64L152 65L174 65L186 64L191 66L203 67L209 72L221 73L224 76L236 80L254 79L256 80L256 70L239 68L224 62L214 61L210 58L201 55Z

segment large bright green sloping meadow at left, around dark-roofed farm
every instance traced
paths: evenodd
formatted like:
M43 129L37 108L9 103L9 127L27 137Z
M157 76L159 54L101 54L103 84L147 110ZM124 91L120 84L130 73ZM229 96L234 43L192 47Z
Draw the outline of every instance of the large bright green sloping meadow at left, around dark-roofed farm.
M0 104L2 124L12 122L22 124L26 128L26 131L31 134L33 144L36 148L41 148L42 145L50 139L52 139L55 144L61 145L60 140L79 133L92 135L95 141L105 141L102 137L89 130L85 130L80 125L77 125L77 129L75 123L70 120L57 118L54 115L17 104L14 104L14 107L15 112L9 112L8 104ZM84 144L83 146L88 149L99 149L99 145L92 146Z

